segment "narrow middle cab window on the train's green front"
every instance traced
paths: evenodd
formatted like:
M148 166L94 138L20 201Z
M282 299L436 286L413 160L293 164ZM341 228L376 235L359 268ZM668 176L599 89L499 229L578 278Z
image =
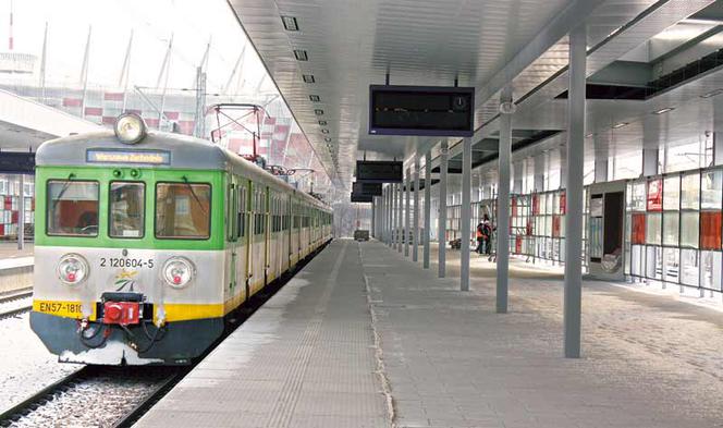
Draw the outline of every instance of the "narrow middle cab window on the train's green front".
M110 237L143 237L146 185L137 182L110 183Z

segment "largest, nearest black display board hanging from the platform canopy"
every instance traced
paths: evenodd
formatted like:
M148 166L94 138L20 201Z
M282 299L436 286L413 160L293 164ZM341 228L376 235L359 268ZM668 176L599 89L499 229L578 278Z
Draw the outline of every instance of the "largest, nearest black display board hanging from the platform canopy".
M369 134L470 137L475 88L369 86Z

